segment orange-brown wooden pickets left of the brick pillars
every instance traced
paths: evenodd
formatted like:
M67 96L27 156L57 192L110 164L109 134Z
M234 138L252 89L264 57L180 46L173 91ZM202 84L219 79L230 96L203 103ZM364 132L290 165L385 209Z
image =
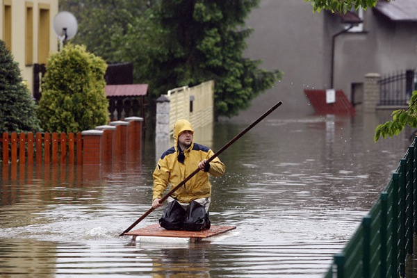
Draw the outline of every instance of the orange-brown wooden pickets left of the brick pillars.
M83 137L79 133L3 133L2 162L12 165L70 164L83 161Z

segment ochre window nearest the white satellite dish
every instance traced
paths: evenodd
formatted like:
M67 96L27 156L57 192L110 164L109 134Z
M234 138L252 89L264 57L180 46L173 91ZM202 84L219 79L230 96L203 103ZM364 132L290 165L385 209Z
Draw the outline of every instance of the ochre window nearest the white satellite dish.
M49 5L39 4L38 63L46 64L49 56Z

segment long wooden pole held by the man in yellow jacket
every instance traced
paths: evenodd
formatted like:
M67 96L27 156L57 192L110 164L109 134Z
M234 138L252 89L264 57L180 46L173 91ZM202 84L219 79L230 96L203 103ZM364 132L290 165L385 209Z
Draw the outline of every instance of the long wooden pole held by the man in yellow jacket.
M240 133L235 136L233 139L231 139L226 145L224 145L221 149L218 150L218 152L216 152L215 154L213 154L213 156L211 156L210 158L207 159L206 163L210 163L211 161L213 161L214 158L218 157L222 152L224 152L225 149L227 149L228 147L230 147L230 145L232 145L234 142L236 142L240 137L242 137L245 133L247 133L247 131L250 131L250 129L252 129L252 127L256 126L256 124L259 124L259 122L261 122L261 120L263 120L265 117L267 117L268 115L270 115L270 113L272 113L272 111L275 111L275 109L278 108L278 106L280 106L282 104L282 101L278 101L277 104L275 104L275 106L272 106L272 108L270 108L268 111L266 111L265 113L263 113L263 115L261 115L261 117L259 117L256 121L252 122L252 124L250 124L250 126L247 126L246 129L244 129L243 131L240 131ZM175 191L178 190L178 188L180 188L181 186L183 186L187 181L189 181L192 177L194 177L195 174L197 174L199 171L201 171L199 169L199 167L197 167L197 169L194 170L194 172L192 172L191 174L189 174L186 179L184 179L183 181L181 181L177 186L175 186L174 188L172 188L170 190L170 192L167 193L167 195L165 195L164 197L162 197L159 200L159 203L162 204L163 202L165 202L165 200L170 197L170 195L172 195L172 193L174 193ZM149 208L149 210L144 213L140 218L138 218L138 220L136 220L135 222L133 222L133 224L131 224L129 226L129 228L125 229L122 234L120 234L119 236L124 236L124 233L127 233L128 231L130 231L131 229L133 229L133 227L135 227L140 221L142 221L143 219L145 219L147 217L147 215L149 215L149 213L152 213L152 211L154 211L154 207Z

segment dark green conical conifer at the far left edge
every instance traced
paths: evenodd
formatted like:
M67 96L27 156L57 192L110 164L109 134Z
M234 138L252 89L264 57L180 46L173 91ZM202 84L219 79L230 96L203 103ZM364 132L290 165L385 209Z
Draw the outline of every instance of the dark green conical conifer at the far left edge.
M6 43L0 40L0 133L13 131L40 131L40 121L19 65Z

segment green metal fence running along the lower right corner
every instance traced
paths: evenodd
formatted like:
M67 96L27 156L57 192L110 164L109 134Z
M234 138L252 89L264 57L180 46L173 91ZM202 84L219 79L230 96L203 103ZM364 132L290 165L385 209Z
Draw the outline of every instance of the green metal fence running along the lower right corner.
M417 231L417 138L363 217L357 231L334 255L326 278L411 277Z

